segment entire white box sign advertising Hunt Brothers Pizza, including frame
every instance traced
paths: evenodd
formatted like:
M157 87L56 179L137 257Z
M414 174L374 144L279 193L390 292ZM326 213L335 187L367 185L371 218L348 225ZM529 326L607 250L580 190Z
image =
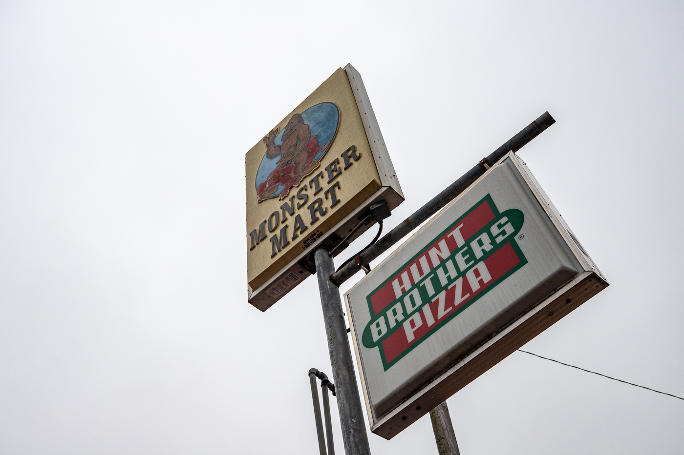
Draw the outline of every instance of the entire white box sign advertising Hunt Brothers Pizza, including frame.
M386 439L608 286L509 153L345 294Z

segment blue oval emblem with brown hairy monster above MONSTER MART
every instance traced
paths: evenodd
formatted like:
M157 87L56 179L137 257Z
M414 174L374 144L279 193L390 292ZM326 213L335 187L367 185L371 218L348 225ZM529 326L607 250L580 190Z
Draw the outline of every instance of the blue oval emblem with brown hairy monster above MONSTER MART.
M298 145L272 158L264 152L254 182L259 202L273 197L285 198L292 187L298 186L302 178L311 174L313 169L320 165L319 161L330 148L332 139L337 133L339 109L332 102L321 102L301 114L295 114L289 123L295 122L297 115L301 116L301 123L303 123L303 126L293 133L300 137ZM308 126L308 131L306 126ZM286 126L280 130L273 139L273 150L277 151L282 146L283 133L287 128ZM264 138L265 141L267 138L269 136ZM293 163L295 156L297 156L298 163Z

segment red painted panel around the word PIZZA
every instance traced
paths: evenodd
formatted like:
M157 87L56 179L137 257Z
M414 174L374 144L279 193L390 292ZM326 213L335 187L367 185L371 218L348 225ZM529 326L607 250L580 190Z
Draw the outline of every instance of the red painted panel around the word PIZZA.
M475 232L477 232L477 230L475 230ZM464 238L466 238L466 236L464 236ZM408 349L409 346L419 342L421 337L425 336L428 331L434 329L434 327L441 321L451 316L453 312L457 311L463 305L466 305L466 303L471 301L471 299L473 299L473 297L475 297L477 294L489 288L497 281L497 279L501 278L506 272L514 268L514 266L520 264L520 259L518 258L518 255L514 251L512 245L507 243L506 245L503 245L503 247L501 247L496 253L492 254L492 256L484 260L484 264L487 267L491 279L484 285L482 284L482 281L479 281L480 288L476 292L473 292L468 279L466 279L466 277L462 277L462 292L461 296L459 297L461 298L466 296L466 294L468 295L456 306L454 306L454 303L456 303L455 299L457 286L447 289L445 302L441 312L439 308L439 300L436 298L436 296L433 296L435 300L430 303L430 311L432 312L432 317L434 318L435 322L434 324L428 326L428 321L425 318L425 312L421 310L421 312L419 312L421 317L421 325L413 332L413 336L415 338L411 342L408 341L408 338L406 337L406 331L403 327L400 327L399 330L392 333L392 335L389 335L389 337L382 342L385 361L390 363L399 357L399 355L401 355L406 349ZM458 300L460 300L460 298ZM442 313L441 317L439 317L440 313ZM412 327L415 327L415 325Z

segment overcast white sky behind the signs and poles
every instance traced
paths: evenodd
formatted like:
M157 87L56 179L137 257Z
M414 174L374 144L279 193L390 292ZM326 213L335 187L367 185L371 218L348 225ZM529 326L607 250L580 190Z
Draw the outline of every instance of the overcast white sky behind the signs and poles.
M0 454L317 453L317 286L247 303L244 154L347 63L406 195L386 228L548 110L519 154L611 286L526 349L684 396L683 24L676 1L1 1ZM522 353L447 402L463 455L684 445L683 401ZM369 439L436 454L428 417Z

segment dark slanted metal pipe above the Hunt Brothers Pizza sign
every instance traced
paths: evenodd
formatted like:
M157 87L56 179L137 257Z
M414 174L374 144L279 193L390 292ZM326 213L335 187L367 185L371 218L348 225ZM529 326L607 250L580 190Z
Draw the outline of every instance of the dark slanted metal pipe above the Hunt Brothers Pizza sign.
M492 154L485 158L484 164L488 166L494 165L499 161L503 155L507 154L510 150L517 152L526 143L537 137L543 130L549 128L553 125L555 120L551 117L549 112L544 112L540 117L527 125L520 133L516 134L511 139L508 139L503 146L497 148ZM475 180L477 180L482 174L484 174L486 168L484 165L475 165L473 169L469 170L458 178L456 182L453 182L449 187L445 188L441 193L433 197L430 202L416 210L410 217L405 219L402 223L397 225L393 230L385 234L380 240L378 240L372 247L364 251L360 255L361 264L369 264L373 259L380 256L384 251L387 251L389 247L397 243L399 240L404 238L412 230L417 228L423 221L432 217L441 208L449 204L456 196L460 195L466 188L468 188ZM356 262L350 262L337 271L331 274L330 281L335 286L340 286L347 279L350 279L356 272L360 271L360 267L356 265Z

